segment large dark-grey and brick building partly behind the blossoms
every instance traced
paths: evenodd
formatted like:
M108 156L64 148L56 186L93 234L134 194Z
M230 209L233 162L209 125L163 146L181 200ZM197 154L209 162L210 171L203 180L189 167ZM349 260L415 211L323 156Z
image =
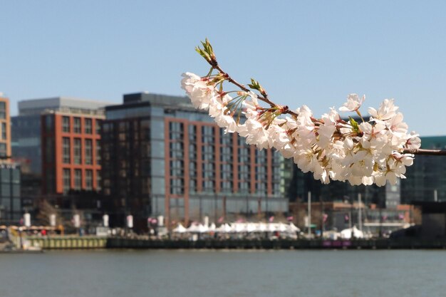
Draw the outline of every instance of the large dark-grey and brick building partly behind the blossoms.
M128 214L145 228L159 215L187 224L287 212L283 157L225 134L188 98L128 94L105 115L103 193L115 209L112 224Z

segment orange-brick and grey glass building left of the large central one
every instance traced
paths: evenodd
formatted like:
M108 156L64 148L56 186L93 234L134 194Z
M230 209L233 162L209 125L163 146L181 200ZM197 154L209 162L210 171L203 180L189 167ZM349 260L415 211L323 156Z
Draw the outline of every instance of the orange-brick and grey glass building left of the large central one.
M26 181L24 199L98 189L100 121L109 104L66 97L19 102L12 153Z

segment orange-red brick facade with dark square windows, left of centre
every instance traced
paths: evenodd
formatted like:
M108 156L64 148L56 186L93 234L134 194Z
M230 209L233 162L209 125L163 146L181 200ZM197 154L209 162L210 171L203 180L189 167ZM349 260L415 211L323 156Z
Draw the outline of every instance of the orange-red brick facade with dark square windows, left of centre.
M41 115L42 193L100 189L102 110L51 110Z

